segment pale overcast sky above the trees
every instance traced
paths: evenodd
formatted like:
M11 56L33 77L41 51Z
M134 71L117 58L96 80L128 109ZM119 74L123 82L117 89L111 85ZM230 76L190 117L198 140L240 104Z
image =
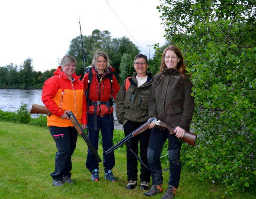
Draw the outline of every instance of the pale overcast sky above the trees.
M33 59L35 71L58 67L70 41L92 31L108 30L112 38L126 36L152 58L164 45L159 0L10 0L1 3L0 66ZM121 21L120 21L121 20Z

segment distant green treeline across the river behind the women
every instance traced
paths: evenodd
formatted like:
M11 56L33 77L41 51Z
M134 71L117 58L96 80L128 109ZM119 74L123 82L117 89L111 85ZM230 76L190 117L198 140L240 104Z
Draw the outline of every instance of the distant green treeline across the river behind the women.
M94 52L101 49L109 56L110 65L115 69L115 76L121 84L127 76L134 72L133 62L135 55L141 53L138 47L133 44L129 38L112 38L109 31L93 30L92 35L83 35L82 46L81 36L75 37L70 41L67 54L76 58L76 75L83 78L85 67L91 65ZM159 72L161 65L161 54L166 47L155 45L156 54L148 60L148 71L152 73ZM83 48L85 54L83 54ZM64 56L64 55L63 55ZM84 60L84 61L83 61ZM22 65L14 64L0 67L0 88L18 88L18 89L41 89L45 80L53 76L54 69L45 72L34 71L32 59L27 58Z

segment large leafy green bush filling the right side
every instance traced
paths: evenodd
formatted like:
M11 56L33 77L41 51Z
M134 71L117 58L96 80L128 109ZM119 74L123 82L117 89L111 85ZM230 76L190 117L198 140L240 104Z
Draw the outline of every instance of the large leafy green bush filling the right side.
M165 0L168 40L182 49L194 84L197 147L183 159L230 195L256 182L256 1Z

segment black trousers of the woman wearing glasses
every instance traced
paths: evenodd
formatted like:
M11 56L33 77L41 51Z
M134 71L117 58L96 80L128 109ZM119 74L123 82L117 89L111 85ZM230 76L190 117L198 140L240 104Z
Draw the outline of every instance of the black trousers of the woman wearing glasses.
M145 121L146 122L146 121ZM139 128L144 123L134 123L129 120L124 124L124 133L125 136L132 133L132 131ZM142 161L149 167L148 165L148 159L147 159L147 148L148 148L148 141L150 138L151 130L147 129L143 133L132 137L127 142L127 178L129 180L136 180L138 181L138 160L132 154L131 151L128 150L128 148L131 148L137 155L138 155L138 149L139 149L139 142L140 142L140 158ZM140 165L140 181L150 182L150 176L151 172L149 169L145 168L142 164Z

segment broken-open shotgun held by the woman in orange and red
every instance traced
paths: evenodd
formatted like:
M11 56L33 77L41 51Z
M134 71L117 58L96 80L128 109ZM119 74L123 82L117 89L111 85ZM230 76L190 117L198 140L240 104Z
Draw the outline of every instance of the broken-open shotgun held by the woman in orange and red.
M52 115L52 113L45 107L39 104L32 104L32 108L30 113L44 113L47 116ZM70 121L72 122L72 124L74 125L74 127L76 128L76 130L78 131L79 135L81 135L83 137L83 139L85 140L86 144L88 145L88 148L92 151L92 154L94 155L94 157L97 159L98 162L101 162L101 158L99 157L97 151L95 150L95 148L93 147L92 143L89 141L88 137L85 135L85 132L83 131L82 127L80 126L79 122L77 121L76 117L73 115L72 111L70 111L69 113L67 113Z

